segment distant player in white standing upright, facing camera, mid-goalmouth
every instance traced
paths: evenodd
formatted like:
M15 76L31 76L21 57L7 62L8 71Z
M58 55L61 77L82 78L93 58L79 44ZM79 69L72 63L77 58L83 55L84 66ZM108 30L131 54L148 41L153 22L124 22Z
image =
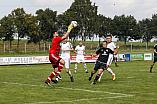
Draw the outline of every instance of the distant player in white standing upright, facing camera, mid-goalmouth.
M74 51L77 56L76 56L76 64L75 64L75 74L77 71L77 65L78 63L82 62L85 68L86 73L88 73L87 71L87 66L84 60L84 55L85 55L85 46L82 45L82 41L79 41L79 45L76 46L75 51Z

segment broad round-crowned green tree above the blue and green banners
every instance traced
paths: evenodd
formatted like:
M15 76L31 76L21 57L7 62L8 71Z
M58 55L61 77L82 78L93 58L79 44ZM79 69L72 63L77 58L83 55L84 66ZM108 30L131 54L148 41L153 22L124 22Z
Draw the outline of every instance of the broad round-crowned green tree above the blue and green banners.
M137 24L136 19L133 16L115 16L113 19L116 24L117 30L115 31L115 35L119 39L124 39L125 46L126 41L130 39L140 39L140 31L139 25Z

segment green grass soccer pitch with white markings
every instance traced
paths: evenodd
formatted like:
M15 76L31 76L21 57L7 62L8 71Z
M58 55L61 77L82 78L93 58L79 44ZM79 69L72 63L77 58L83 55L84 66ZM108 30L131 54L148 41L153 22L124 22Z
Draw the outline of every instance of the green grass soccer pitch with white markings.
M105 71L101 82L91 85L90 73L85 73L83 64L70 70L74 82L70 82L65 69L63 80L51 82L49 88L44 81L53 71L50 64L0 66L0 104L157 104L157 66L149 73L152 61L118 62L111 69L116 80ZM94 63L87 63L91 72Z

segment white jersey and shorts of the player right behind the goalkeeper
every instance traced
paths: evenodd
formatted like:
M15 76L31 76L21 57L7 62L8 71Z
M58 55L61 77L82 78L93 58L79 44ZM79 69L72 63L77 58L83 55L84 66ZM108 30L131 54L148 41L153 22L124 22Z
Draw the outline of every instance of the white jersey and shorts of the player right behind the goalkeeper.
M62 50L69 50L71 48L73 48L73 46L70 42L61 43ZM61 58L63 58L63 59L70 58L70 51L62 51Z

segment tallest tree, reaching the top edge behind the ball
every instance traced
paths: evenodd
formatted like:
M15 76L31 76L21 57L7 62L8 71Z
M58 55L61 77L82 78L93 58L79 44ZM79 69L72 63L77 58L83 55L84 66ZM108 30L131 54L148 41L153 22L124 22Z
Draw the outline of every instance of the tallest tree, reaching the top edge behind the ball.
M74 16L78 17L78 24L80 29L77 35L82 37L84 40L84 45L86 45L86 38L90 38L91 34L93 34L93 28L95 28L95 20L97 15L97 6L92 5L90 0L75 0L70 9L67 12L75 13Z

